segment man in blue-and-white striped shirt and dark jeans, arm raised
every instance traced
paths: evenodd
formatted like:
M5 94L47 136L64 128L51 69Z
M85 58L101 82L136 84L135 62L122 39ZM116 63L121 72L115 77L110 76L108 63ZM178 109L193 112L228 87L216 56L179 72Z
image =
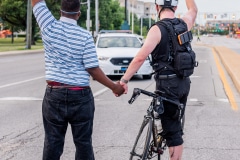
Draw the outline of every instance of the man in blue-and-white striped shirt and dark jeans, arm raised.
M92 128L94 98L90 75L120 96L123 88L99 68L90 32L79 27L79 0L62 0L56 20L44 0L32 0L45 50L47 88L43 99L44 160L59 160L68 124L76 146L76 160L94 160Z

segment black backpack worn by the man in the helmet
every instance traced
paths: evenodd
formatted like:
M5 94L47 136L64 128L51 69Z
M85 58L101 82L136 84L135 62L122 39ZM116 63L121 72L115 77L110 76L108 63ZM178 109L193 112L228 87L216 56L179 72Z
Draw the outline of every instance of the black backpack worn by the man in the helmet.
M159 67L167 66L169 70L174 71L178 77L189 77L194 72L194 67L198 66L195 52L192 50L191 31L186 31L186 23L181 19L161 20L156 25L162 25L168 31L170 52L168 53L168 62L154 63L153 69L158 72ZM171 61L171 62L169 62ZM164 64L164 65L163 65ZM169 65L171 64L171 65ZM160 68L161 69L161 68Z

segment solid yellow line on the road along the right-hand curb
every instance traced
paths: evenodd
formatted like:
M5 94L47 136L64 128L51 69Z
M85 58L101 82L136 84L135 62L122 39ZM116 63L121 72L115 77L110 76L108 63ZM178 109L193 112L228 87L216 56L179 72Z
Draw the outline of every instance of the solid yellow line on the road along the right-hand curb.
M216 65L217 65L217 69L218 69L220 78L222 80L224 89L226 91L227 97L228 97L229 102L231 104L231 108L232 108L232 110L237 111L238 110L238 106L237 106L234 94L233 94L233 92L231 90L231 87L230 87L228 81L227 81L227 78L226 78L224 70L223 70L223 68L221 66L219 57L217 56L217 52L216 52L216 50L214 48L212 48L212 52L213 52L213 56L214 56L214 59L215 59Z

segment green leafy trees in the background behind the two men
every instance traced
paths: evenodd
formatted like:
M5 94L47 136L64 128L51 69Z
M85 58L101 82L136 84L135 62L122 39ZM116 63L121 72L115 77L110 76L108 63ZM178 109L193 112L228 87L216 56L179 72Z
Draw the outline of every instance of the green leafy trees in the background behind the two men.
M86 0L87 1L87 0ZM45 0L49 10L56 19L60 18L60 1ZM83 2L83 1L82 1ZM12 32L25 31L27 27L27 3L28 0L0 0L0 18L4 23L4 29L10 29ZM95 1L90 0L90 20L92 21L91 30L95 30ZM78 24L86 28L87 5L81 4L81 16ZM99 30L118 30L125 20L125 8L120 7L117 0L99 0ZM140 20L134 16L134 32L140 34ZM145 24L144 25L148 26ZM143 28L146 34L147 27ZM32 44L35 43L39 27L36 19L32 16Z

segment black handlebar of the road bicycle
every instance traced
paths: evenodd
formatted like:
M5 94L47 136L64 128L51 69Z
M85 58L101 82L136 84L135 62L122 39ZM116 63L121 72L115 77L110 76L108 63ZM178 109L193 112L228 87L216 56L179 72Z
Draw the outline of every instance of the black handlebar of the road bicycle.
M161 91L156 91L156 92L161 92ZM170 102L170 103L172 103L172 104L177 105L177 106L180 107L180 108L183 108L183 104L182 104L182 103L173 101L173 100L168 99L168 98L166 98L166 97L160 96L160 95L158 95L158 94L155 94L155 93L152 93L152 92L149 92L149 91L140 89L140 88L134 88L134 89L133 89L132 97L131 97L131 99L128 101L128 103L129 103L129 104L132 104L132 103L137 99L137 97L138 97L141 93L142 93L142 94L145 94L145 95L147 95L147 96L153 97L153 98L158 98L158 97L159 97L161 100L168 101L168 102Z

